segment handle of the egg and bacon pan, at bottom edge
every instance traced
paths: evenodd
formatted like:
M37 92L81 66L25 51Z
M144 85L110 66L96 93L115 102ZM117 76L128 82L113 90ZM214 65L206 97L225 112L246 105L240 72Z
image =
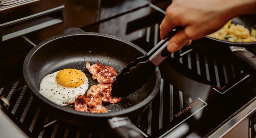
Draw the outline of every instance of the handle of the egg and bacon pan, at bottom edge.
M145 138L146 134L141 134L141 130L131 123L128 117L113 117L108 119L110 128L115 131L120 138Z

